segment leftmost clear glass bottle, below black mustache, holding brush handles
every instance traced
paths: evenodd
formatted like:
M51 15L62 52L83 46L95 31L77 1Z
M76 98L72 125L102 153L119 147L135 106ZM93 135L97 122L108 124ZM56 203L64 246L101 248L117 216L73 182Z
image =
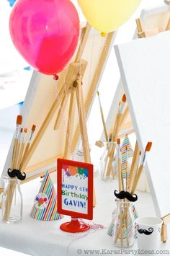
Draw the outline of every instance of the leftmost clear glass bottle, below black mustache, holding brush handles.
M22 193L17 177L4 177L2 221L7 224L22 221Z

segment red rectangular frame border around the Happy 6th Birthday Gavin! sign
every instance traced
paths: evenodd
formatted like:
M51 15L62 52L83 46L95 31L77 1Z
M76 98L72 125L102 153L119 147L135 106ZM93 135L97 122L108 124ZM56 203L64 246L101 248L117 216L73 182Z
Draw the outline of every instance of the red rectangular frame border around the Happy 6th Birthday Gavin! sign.
M63 166L80 167L88 170L87 181L87 213L79 213L68 211L62 208L62 169ZM70 181L71 182L71 179ZM57 198L58 198L58 213L71 216L72 218L93 219L93 165L84 162L76 162L68 159L57 160Z

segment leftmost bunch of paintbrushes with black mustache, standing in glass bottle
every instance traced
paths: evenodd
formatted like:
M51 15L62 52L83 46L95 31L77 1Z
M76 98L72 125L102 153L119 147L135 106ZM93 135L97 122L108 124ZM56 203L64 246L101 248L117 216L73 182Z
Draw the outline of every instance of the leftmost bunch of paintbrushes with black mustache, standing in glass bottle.
M8 169L8 175L11 178L11 182L9 180L9 185L5 190L5 202L4 202L4 215L3 220L8 221L9 215L12 207L12 200L14 197L14 191L17 185L17 179L24 180L26 178L25 173L22 170L24 159L27 157L27 152L30 148L30 144L32 142L32 136L35 131L35 125L32 125L32 129L30 131L30 138L27 142L27 128L22 128L22 115L17 116L16 129L14 133L14 141L13 141L13 151L12 151L12 162L11 167ZM16 181L16 182L14 182Z

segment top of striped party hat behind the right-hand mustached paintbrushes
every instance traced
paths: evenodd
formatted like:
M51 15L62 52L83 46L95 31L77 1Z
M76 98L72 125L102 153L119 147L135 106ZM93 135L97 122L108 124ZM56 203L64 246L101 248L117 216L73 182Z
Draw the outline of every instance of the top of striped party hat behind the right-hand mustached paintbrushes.
M127 152L126 152L127 149ZM128 174L130 172L130 167L128 164L128 159L133 157L133 147L130 144L130 140L128 135L125 136L124 140L122 141L121 146L121 158L122 158L122 177L126 177L126 168L128 169ZM127 159L128 158L128 159Z

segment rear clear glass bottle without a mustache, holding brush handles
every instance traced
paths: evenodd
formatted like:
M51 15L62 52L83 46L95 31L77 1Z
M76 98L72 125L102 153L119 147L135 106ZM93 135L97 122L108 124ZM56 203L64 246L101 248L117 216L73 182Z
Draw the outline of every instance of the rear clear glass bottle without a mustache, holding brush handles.
M116 143L114 141L104 141L104 151L100 158L100 172L102 180L112 182L116 180Z

